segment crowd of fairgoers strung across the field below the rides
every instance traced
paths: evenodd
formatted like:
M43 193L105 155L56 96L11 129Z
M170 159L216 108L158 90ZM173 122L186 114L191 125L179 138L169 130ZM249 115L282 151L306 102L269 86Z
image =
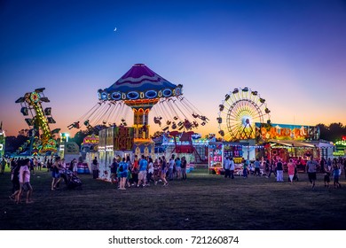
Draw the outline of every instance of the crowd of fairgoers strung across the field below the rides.
M282 159L256 159L253 162L243 159L241 168L236 173L236 165L231 157L224 159L224 177L234 179L235 174L239 174L244 178L248 175L265 176L271 178L271 174L276 177L276 182L284 182L284 173L287 173L287 182L293 183L299 181L297 166L300 164L299 159L288 159L284 163ZM41 161L39 158L32 159L2 159L1 174L4 174L4 167L11 167L12 180L12 195L9 196L16 203L20 203L22 195L26 193L26 203L32 203L33 188L30 183L30 175L35 174L37 170L42 170L43 167L51 172L51 190L59 189L59 183L62 180L62 175L66 171L70 174L77 175L77 160L73 159L69 165L65 159L56 157L55 159L45 158ZM186 180L185 157L181 159L172 155L166 159L161 156L158 159L152 159L142 155L140 158L136 155L133 160L130 156L126 158L114 158L110 167L110 181L116 184L119 190L126 190L130 187L147 187L161 183L164 187L169 185L169 181ZM98 159L95 157L91 163L92 175L94 179L98 178ZM304 166L304 172L308 174L311 188L314 189L317 181L317 173L323 174L323 182L326 188L331 187L330 182L333 180L332 186L335 189L341 188L339 182L340 176L345 175L346 179L346 158L339 159L310 159Z

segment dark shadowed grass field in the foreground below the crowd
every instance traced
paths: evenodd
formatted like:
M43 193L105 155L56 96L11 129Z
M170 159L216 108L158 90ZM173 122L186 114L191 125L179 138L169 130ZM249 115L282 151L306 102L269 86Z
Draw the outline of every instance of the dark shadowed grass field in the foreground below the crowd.
M80 175L82 190L51 191L51 174L32 175L34 204L16 205L10 173L0 175L0 229L346 229L346 185L326 189L322 174L311 190L271 177L225 179L197 169L187 181L116 190ZM285 178L287 174L285 174Z

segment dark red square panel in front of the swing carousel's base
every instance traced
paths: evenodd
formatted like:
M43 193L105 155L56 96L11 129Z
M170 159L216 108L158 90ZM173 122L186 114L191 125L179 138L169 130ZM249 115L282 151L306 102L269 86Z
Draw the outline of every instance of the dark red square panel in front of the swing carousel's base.
M131 151L134 143L134 128L114 128L114 150Z

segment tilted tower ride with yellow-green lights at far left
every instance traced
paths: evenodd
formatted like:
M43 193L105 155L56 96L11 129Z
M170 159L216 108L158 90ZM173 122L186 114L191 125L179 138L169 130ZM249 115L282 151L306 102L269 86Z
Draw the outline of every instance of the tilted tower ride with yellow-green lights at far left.
M18 154L26 153L31 156L47 151L57 151L57 142L53 139L53 135L59 133L59 128L51 131L49 126L49 124L56 123L51 117L51 107L47 107L43 111L42 103L50 102L48 97L43 94L44 89L39 88L28 92L15 102L21 105L20 112L24 116L30 116L25 121L31 128L28 132L29 140L20 146Z

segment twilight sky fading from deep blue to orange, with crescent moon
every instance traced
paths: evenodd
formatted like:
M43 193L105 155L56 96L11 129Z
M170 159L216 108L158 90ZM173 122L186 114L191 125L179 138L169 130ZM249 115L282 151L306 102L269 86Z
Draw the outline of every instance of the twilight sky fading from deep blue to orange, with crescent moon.
M246 86L273 123L346 124L345 1L4 0L0 35L7 136L28 128L14 103L26 92L45 87L51 128L67 131L136 63L184 85L210 119L203 135L217 133L224 95Z

